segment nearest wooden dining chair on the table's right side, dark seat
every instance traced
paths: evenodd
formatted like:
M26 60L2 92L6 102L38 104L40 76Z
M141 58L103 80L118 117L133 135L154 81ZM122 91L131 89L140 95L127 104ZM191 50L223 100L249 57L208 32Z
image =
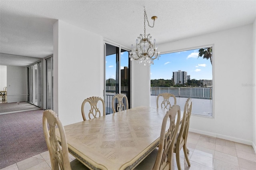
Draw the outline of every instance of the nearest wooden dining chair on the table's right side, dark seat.
M175 117L177 121L175 122ZM166 124L170 119L168 129ZM180 106L173 105L164 116L158 149L154 149L134 170L170 170L175 139L180 124Z

